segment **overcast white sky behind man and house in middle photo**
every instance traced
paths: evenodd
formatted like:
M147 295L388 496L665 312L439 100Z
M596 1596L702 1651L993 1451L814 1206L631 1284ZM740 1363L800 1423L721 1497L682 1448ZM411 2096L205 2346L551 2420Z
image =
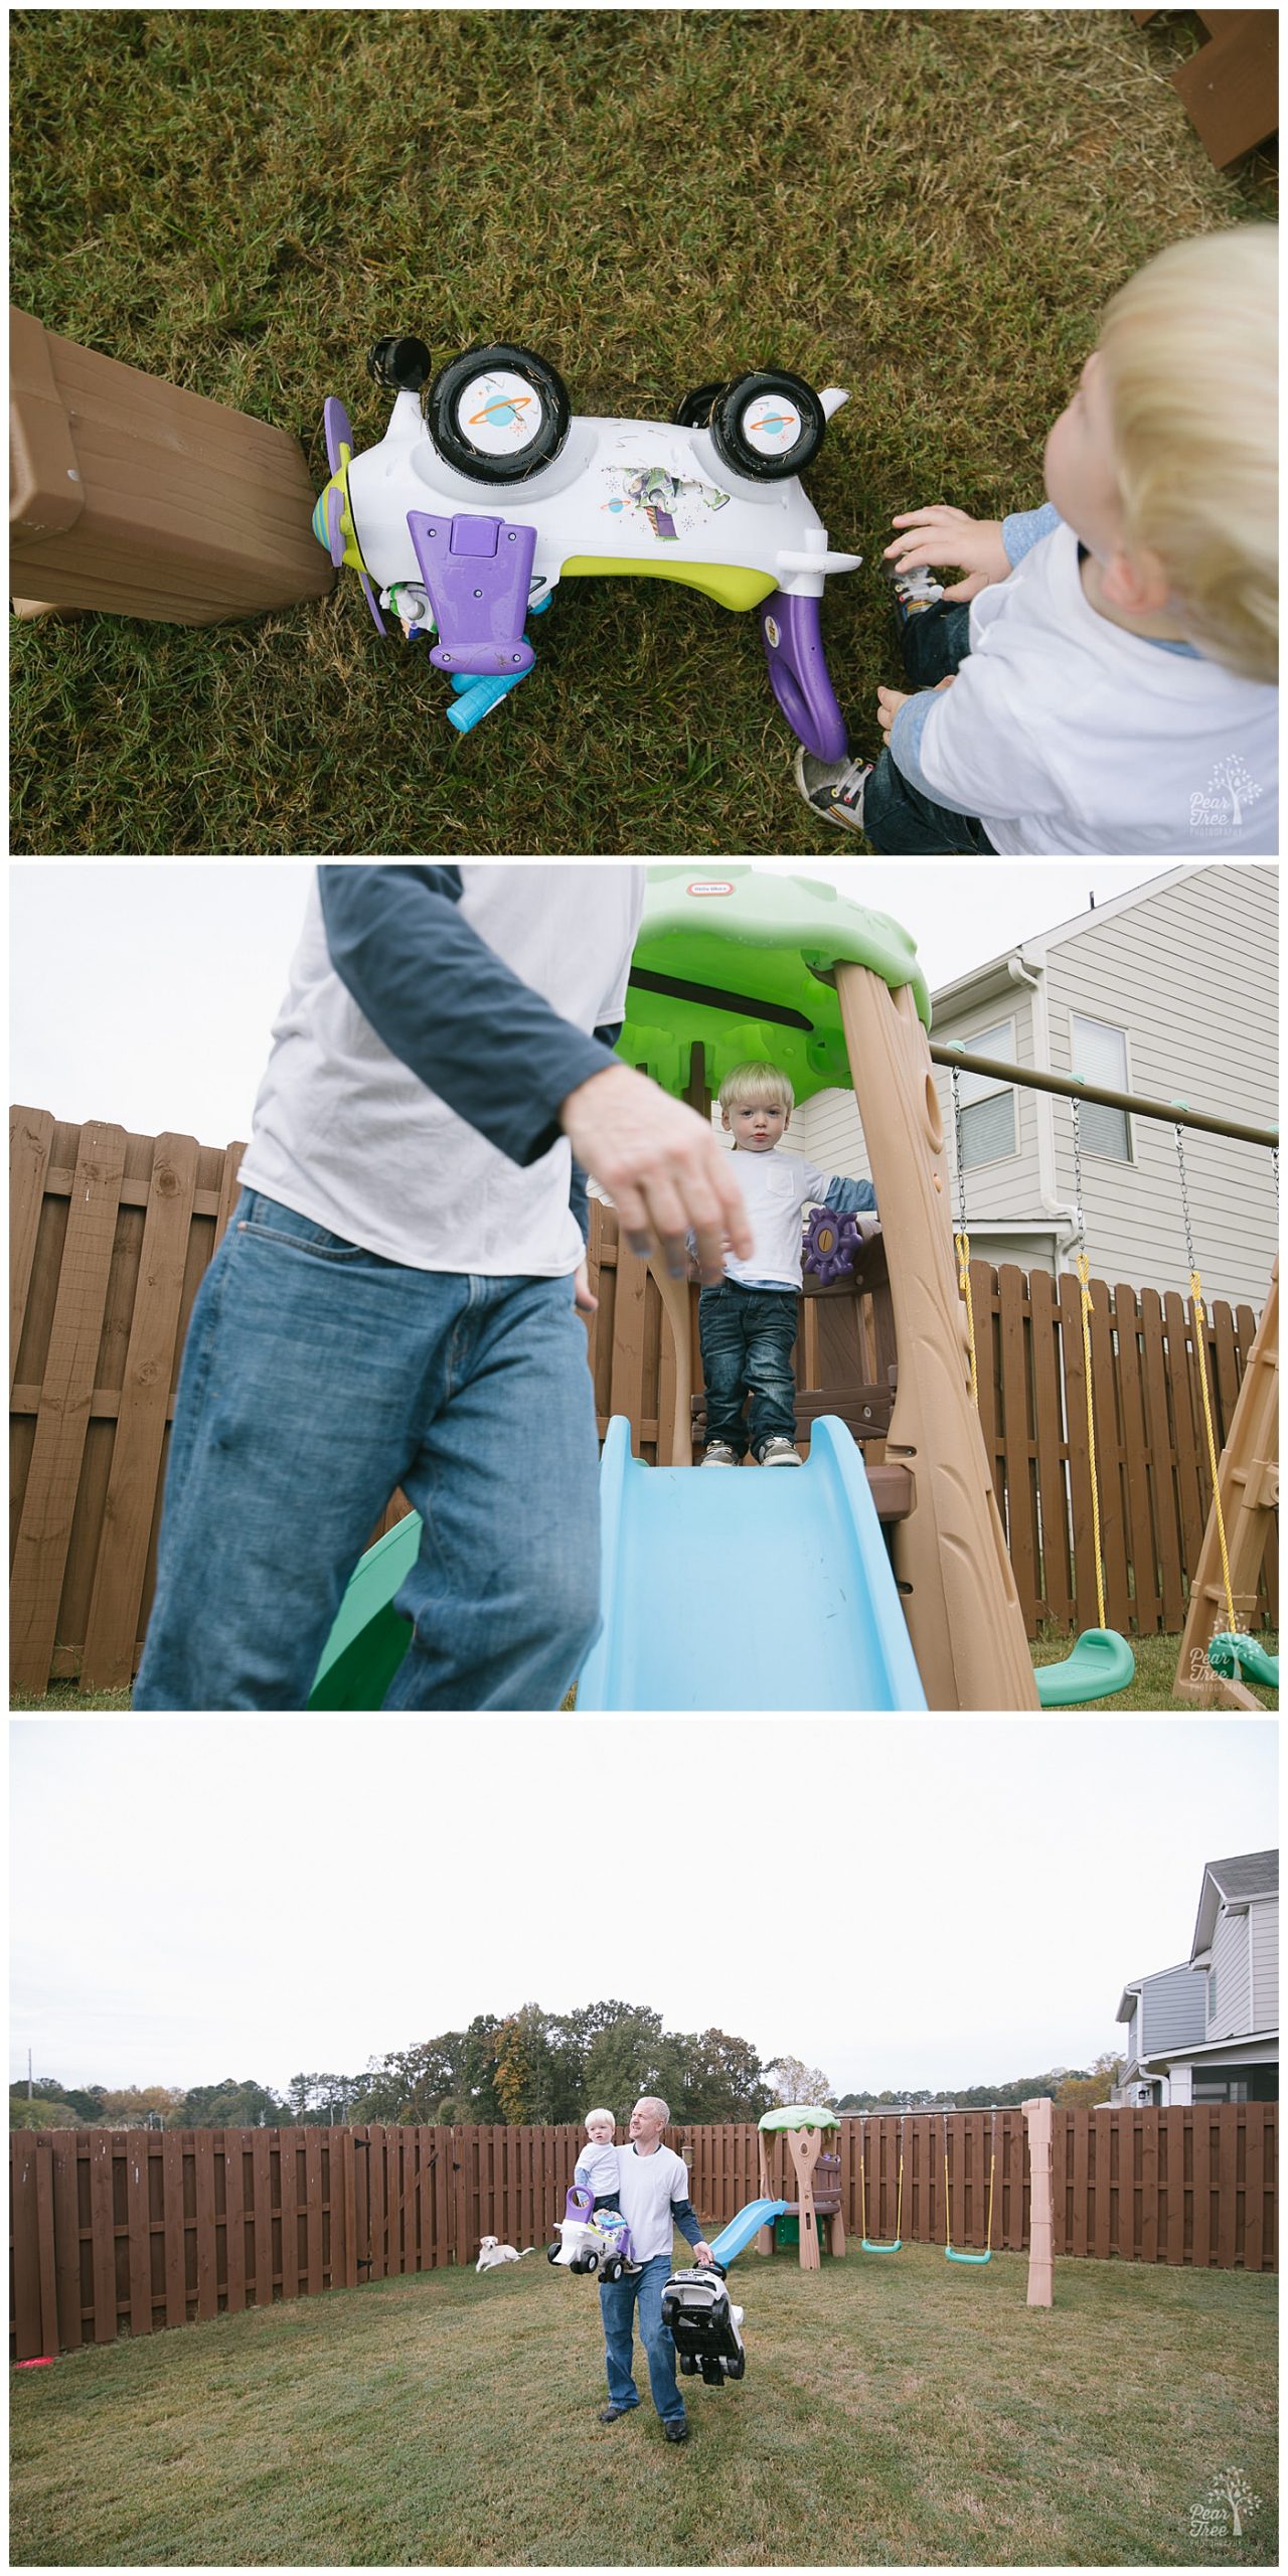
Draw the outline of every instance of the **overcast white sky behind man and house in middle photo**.
M1072 920L1092 894L1103 904L1162 873L1059 860L773 871L824 876L891 912L933 989ZM247 1136L307 878L304 860L10 866L10 1100L142 1136L173 1128L216 1146Z

